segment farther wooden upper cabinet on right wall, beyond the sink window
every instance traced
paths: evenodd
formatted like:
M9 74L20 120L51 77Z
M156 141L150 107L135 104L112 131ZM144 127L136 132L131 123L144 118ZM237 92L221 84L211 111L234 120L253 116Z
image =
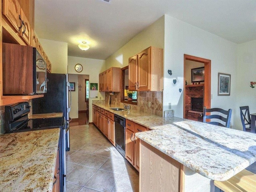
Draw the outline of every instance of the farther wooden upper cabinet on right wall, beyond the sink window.
M99 74L100 91L119 92L120 91L121 69L111 67Z

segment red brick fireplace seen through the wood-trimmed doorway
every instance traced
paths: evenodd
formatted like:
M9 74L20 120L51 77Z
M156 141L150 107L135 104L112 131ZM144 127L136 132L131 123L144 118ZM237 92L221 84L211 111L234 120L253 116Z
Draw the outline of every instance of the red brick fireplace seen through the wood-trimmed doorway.
M204 84L186 85L185 93L185 118L202 122L203 118L200 117L200 115L203 113L202 108L204 106L204 103L200 103L203 102L203 99L198 98L204 97ZM192 100L194 101L193 110L191 103Z

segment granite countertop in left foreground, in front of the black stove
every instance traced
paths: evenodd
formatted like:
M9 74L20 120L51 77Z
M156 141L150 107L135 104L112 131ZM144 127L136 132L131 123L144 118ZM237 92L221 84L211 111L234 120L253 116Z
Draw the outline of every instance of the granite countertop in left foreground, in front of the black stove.
M0 191L52 191L60 129L0 135Z

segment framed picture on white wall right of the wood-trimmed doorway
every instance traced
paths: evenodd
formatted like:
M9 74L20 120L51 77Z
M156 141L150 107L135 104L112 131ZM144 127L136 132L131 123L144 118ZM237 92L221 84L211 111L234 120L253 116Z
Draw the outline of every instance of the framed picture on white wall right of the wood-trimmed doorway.
M218 95L230 95L231 75L218 73Z

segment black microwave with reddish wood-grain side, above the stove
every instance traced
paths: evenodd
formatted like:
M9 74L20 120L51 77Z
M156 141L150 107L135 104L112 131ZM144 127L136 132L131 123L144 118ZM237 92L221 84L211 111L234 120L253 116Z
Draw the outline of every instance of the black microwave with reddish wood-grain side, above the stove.
M3 43L3 95L47 92L47 64L32 46Z

